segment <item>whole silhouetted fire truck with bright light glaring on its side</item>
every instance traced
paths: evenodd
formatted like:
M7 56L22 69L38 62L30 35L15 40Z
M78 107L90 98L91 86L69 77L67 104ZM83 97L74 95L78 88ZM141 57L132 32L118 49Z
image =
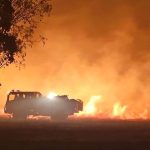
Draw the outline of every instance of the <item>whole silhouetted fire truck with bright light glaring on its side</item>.
M69 99L67 95L45 97L40 92L14 91L8 93L4 112L13 119L32 116L49 116L52 120L64 120L83 110L80 99Z

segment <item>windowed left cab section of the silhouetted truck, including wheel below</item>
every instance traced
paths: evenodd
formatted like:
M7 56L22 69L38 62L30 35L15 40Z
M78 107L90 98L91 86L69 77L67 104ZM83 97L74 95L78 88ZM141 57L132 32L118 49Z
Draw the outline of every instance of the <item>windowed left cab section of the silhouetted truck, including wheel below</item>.
M4 112L13 118L26 118L36 114L36 104L42 97L40 92L11 91L7 95Z

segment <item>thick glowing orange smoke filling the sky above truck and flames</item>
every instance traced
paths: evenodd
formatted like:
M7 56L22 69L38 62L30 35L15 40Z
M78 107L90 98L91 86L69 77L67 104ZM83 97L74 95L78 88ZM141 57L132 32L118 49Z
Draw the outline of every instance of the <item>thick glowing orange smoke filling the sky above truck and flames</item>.
M39 32L45 47L28 49L26 67L0 70L4 86L82 98L102 95L139 113L149 108L150 2L148 0L55 0ZM11 75L10 75L11 74Z

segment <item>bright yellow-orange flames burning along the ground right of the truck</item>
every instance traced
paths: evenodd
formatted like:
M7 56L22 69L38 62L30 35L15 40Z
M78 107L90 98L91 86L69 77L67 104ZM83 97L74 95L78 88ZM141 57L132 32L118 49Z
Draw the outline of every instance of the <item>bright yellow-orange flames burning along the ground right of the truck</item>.
M129 105L122 105L120 101L114 101L109 105L109 110L104 110L105 101L102 95L91 96L89 101L84 106L82 112L76 114L73 118L99 118L99 119L148 119L148 109L143 109L137 113L133 113ZM111 111L110 111L111 108Z

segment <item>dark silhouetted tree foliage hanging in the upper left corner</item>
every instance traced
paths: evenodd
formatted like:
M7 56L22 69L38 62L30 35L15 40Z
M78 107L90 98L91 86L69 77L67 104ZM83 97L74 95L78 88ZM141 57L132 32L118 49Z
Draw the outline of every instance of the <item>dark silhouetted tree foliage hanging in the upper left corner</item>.
M0 67L24 61L23 49L32 46L34 31L51 8L50 0L0 0Z

